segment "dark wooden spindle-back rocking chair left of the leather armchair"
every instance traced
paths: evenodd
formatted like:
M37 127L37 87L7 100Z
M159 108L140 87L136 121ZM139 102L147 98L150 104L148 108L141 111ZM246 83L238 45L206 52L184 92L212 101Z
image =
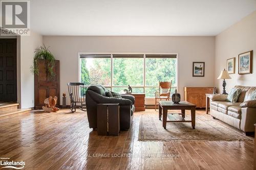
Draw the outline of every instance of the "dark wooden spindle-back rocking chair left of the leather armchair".
M70 96L70 110L76 111L76 107L86 111L86 90L83 83L67 83ZM79 105L77 105L79 104Z

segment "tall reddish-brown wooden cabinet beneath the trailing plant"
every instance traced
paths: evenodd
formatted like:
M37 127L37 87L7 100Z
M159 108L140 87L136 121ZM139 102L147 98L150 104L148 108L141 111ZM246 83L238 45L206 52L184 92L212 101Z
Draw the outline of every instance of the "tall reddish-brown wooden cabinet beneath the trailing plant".
M49 96L57 96L57 107L59 107L59 60L55 61L53 71L54 78L50 78L46 69L46 61L38 61L38 75L35 74L35 109L42 109L44 101Z

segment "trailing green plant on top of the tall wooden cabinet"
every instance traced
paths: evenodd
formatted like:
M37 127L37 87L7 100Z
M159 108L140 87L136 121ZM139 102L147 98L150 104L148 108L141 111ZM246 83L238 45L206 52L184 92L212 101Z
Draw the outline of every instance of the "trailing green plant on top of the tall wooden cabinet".
M33 74L38 75L39 69L38 69L38 60L46 60L46 71L50 78L53 78L55 76L55 73L53 71L53 67L55 65L55 58L53 54L49 50L49 46L46 47L45 44L43 46L40 46L39 48L35 49L35 57L33 61L33 65L31 66L31 72Z

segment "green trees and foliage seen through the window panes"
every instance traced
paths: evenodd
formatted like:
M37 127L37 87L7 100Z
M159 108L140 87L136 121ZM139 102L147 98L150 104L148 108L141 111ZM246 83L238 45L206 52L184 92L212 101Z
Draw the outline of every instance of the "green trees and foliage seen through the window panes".
M114 58L114 86L143 86L142 58ZM159 81L172 80L176 86L176 59L148 58L146 59L146 86L158 86ZM111 86L111 59L87 58L81 59L81 82L86 85L100 84ZM123 91L123 87L113 87L113 91ZM153 98L158 87L145 87L147 98ZM173 90L173 89L172 89ZM134 88L133 92L141 93L143 88Z

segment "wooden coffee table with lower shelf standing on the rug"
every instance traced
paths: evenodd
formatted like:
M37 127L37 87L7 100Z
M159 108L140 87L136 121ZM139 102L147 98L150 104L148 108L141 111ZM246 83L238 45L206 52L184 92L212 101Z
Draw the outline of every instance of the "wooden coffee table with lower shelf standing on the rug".
M181 114L178 116L172 115L172 120L167 120L167 111L168 110L181 110ZM185 120L185 110L191 111L191 120ZM163 111L163 113L162 113ZM179 104L174 104L171 101L159 101L159 120L161 120L163 114L163 128L166 129L166 123L167 122L175 122L175 123L181 123L181 122L191 122L192 128L195 129L196 126L196 105L181 101Z

